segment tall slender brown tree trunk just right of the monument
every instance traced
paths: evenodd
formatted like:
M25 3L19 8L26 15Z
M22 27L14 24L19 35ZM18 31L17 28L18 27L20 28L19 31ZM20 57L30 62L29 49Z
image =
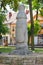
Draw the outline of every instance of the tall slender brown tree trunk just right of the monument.
M32 14L32 0L28 0L30 9L30 20L31 20L31 49L34 50L34 21Z

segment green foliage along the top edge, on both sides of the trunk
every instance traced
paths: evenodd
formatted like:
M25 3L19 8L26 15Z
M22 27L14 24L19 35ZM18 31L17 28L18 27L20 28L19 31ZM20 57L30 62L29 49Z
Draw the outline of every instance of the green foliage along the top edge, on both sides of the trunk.
M13 10L17 11L19 2L29 4L29 0L2 0L1 7L4 7L4 9L6 9L5 8L6 4L9 4L10 7L13 8ZM39 9L40 3L42 4L43 0L32 0L33 9Z

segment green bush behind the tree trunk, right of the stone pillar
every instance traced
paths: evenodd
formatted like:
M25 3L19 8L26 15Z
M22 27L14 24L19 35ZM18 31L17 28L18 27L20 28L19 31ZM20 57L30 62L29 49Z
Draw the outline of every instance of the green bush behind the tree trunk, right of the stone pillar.
M30 43L30 37L31 37L31 23L27 25L28 29L28 45ZM39 24L39 20L34 21L34 36L38 35L39 31L41 30L41 26Z

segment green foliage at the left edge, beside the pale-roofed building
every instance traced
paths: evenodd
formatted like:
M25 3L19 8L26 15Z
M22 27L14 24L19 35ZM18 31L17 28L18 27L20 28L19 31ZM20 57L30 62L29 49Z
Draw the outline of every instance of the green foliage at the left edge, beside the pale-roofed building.
M0 12L0 35L6 34L9 31L8 27L4 24L5 19L5 14Z

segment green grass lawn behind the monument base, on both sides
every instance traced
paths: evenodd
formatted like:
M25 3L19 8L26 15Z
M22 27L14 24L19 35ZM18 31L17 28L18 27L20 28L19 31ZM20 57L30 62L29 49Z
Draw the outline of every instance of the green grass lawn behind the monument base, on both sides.
M0 46L0 52L9 53L12 50L16 49L14 46ZM43 48L35 48L34 50L36 53L43 53Z

